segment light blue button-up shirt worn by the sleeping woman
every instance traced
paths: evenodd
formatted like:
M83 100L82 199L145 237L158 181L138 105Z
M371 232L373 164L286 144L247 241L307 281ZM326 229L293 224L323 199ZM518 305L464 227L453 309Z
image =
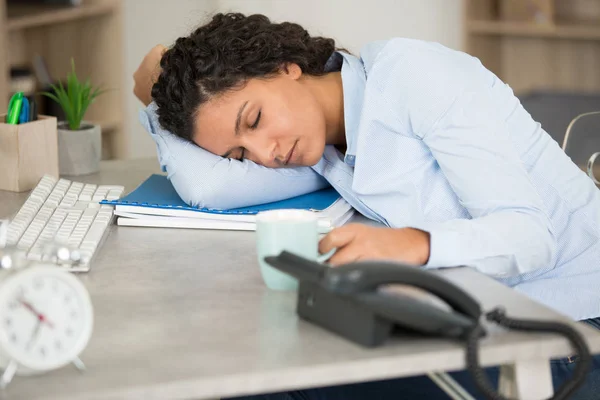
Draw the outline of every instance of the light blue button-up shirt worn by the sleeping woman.
M476 58L409 39L371 43L360 58L335 53L336 67L345 154L326 146L317 175L188 145L161 161L184 200L241 206L257 187L272 200L276 187L307 192L322 176L366 217L429 232L426 268L467 265L574 319L600 316L600 192L507 85ZM145 114L155 140L179 140ZM236 185L213 190L229 176Z

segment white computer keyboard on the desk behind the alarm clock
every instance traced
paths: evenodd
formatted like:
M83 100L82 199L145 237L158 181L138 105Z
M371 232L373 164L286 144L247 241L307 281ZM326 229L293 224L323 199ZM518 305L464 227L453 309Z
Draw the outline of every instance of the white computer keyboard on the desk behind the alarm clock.
M113 220L113 206L123 186L94 185L44 176L8 225L6 245L17 246L29 260L42 260L51 243L78 250L80 262L68 267L86 272Z

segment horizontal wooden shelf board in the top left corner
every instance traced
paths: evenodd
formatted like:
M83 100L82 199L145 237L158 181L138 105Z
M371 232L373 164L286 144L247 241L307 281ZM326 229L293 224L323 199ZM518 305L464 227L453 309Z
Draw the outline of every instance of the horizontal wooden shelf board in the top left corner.
M72 7L10 4L7 7L7 29L10 32L109 14L116 6L114 1L84 2L80 6Z

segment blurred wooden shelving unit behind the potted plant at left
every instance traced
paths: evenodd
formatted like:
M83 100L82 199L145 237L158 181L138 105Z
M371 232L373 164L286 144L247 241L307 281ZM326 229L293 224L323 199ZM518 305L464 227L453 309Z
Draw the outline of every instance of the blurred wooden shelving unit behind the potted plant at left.
M34 3L0 0L0 54L10 55L0 56L0 110L8 105L10 67L28 66L36 56L43 57L53 79L66 76L73 57L81 76L106 87L123 86L123 0L82 0L79 6ZM123 98L116 92L106 96L86 119L102 128L104 158L125 157Z

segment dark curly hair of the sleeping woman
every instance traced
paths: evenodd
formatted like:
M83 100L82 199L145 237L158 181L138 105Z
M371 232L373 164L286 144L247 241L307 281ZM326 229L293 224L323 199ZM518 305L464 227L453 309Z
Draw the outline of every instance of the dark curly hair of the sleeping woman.
M216 14L180 37L162 56L162 72L152 87L162 127L191 141L198 107L212 97L267 77L287 63L303 73L325 74L335 41L313 37L300 25L274 23L264 15Z

